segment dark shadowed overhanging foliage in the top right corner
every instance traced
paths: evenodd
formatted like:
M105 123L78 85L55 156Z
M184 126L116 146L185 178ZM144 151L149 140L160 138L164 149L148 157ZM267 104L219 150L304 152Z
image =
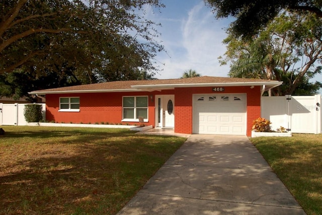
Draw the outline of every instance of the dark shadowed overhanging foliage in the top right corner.
M231 32L234 36L250 38L282 11L311 12L322 18L320 0L204 0L217 18L234 17Z

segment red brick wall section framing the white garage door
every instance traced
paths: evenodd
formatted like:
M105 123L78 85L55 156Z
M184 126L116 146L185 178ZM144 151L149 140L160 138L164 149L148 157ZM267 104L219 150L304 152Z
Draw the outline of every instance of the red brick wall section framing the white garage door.
M225 87L220 93L247 93L247 135L252 134L253 120L261 116L261 88ZM192 133L192 95L215 94L212 87L175 89L175 132Z

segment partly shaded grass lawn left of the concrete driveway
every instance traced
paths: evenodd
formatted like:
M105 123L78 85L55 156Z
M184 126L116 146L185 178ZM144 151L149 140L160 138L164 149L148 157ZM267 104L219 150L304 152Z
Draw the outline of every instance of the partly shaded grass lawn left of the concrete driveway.
M0 214L115 214L186 138L3 126Z

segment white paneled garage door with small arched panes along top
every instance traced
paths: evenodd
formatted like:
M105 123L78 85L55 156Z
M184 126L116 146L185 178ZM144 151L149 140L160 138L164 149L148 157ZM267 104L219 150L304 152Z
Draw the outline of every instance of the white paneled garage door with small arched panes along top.
M193 95L193 133L246 135L246 94Z

